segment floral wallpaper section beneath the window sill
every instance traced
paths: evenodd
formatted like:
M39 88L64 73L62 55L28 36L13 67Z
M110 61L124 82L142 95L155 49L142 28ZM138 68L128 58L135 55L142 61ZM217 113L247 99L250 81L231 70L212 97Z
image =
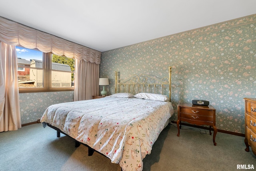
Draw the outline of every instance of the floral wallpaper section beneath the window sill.
M74 91L20 93L21 124L40 119L50 105L74 101Z

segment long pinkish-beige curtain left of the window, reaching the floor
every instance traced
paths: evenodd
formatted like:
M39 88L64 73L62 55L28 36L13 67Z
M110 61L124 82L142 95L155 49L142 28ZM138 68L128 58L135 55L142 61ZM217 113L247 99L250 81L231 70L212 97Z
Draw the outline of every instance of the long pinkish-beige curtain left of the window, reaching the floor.
M21 128L17 73L15 46L0 42L0 132Z

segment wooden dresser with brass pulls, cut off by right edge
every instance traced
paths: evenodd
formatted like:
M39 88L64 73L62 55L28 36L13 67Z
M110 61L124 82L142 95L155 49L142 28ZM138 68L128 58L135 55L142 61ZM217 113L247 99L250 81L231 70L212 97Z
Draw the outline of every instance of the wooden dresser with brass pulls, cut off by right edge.
M256 98L244 98L245 100L245 151L250 151L256 155Z

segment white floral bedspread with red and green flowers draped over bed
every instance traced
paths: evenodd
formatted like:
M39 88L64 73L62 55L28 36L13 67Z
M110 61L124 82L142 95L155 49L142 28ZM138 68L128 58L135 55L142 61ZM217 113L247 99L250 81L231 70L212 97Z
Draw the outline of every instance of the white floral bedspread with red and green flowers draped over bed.
M172 113L169 101L104 97L51 105L40 121L106 155L123 171L142 171L142 160Z

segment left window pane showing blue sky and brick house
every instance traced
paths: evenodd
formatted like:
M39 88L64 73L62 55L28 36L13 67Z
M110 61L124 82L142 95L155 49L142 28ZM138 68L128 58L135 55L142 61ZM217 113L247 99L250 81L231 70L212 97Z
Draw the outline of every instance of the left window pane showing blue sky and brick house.
M16 46L18 58L18 86L19 87L43 87L43 53ZM31 68L33 67L33 68Z

